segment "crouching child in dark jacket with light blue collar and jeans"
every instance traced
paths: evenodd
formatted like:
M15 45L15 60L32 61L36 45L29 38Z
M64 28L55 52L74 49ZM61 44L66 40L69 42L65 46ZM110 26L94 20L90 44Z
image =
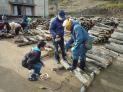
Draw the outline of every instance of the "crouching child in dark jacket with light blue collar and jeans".
M32 48L31 52L29 54L25 55L25 58L27 57L27 66L30 70L28 79L30 81L37 81L40 76L40 70L42 66L44 66L44 63L41 61L41 51L43 51L45 48L46 43L44 41L40 41L36 47Z

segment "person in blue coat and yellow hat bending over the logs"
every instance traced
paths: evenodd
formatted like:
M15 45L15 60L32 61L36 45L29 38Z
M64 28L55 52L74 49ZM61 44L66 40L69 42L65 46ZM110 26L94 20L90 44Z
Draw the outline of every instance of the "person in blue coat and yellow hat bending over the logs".
M73 63L70 67L70 70L76 69L78 59L80 59L80 68L84 70L87 52L87 49L85 47L85 41L88 39L89 34L79 24L79 22L72 19L66 19L63 23L63 26L65 30L71 32L71 39L66 43L66 51L74 43L74 46L71 49Z

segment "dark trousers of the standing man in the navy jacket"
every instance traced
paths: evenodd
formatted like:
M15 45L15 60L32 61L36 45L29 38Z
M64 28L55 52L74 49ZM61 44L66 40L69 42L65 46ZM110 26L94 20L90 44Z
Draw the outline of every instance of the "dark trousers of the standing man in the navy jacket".
M55 41L53 39L53 43L54 43L54 49L55 49L55 52L54 52L55 53L55 59L57 61L60 61L59 51L58 51L59 47L60 47L61 52L62 52L62 58L64 59L65 56L66 56L65 49L64 49L64 38L61 37L61 40L60 41Z

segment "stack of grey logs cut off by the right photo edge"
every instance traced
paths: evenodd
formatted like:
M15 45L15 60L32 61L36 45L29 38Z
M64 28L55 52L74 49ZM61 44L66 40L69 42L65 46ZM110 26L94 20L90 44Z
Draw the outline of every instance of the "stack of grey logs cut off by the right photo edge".
M123 62L123 23L120 23L117 31L111 35L109 41L110 43L106 44L105 47L110 50L117 62Z

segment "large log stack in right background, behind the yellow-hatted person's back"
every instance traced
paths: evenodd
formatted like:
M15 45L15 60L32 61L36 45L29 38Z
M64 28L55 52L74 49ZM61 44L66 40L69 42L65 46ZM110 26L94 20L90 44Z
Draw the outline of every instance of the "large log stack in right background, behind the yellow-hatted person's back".
M111 34L118 26L118 19L115 18L84 18L78 19L83 26L94 37L94 43L106 43L111 37Z

